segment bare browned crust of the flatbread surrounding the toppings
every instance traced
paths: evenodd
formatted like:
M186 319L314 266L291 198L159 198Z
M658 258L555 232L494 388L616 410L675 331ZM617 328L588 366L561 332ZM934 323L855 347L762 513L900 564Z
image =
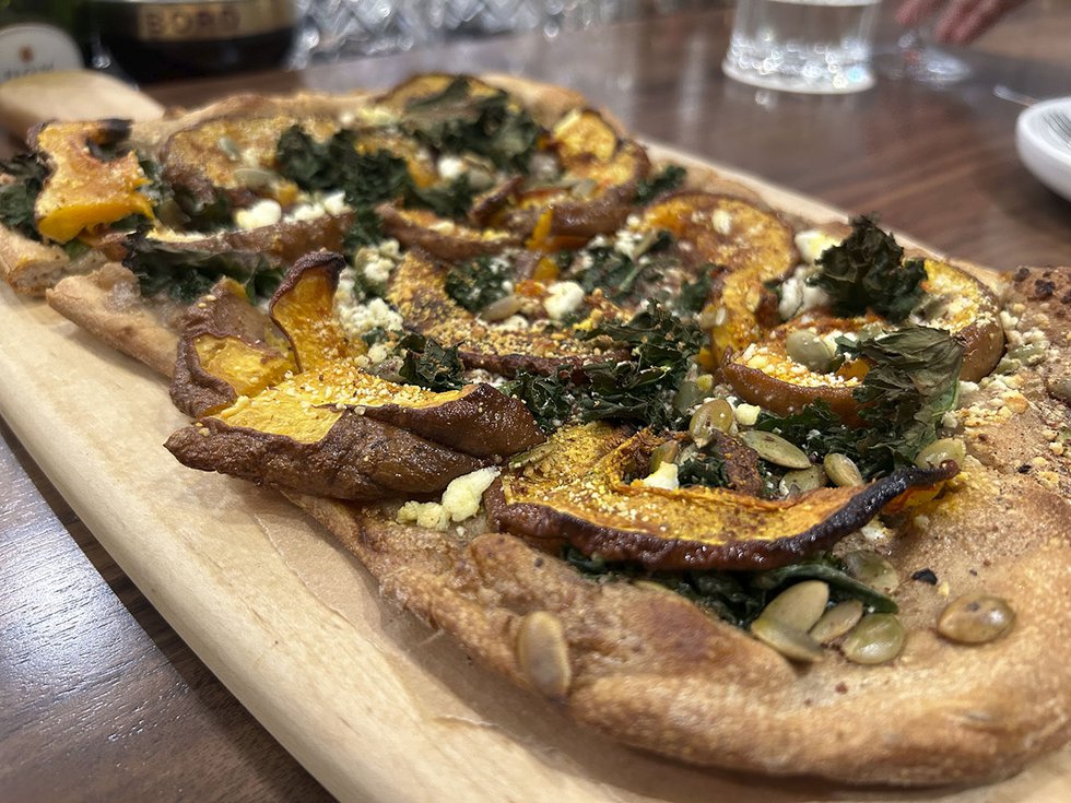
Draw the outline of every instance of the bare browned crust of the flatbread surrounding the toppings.
M584 108L558 87L487 81L548 126ZM250 110L340 116L368 97L229 98L139 123L131 141L153 152L207 120ZM714 170L692 172L687 188L760 202ZM40 290L70 270L62 249L12 237L0 232L0 258L21 288ZM904 513L899 536L883 544L903 580L896 600L909 634L887 664L859 665L836 649L793 663L664 587L586 577L490 531L483 518L443 531L399 523L397 504L343 503L293 485L285 493L368 568L387 599L612 739L701 766L848 783L1007 777L1071 736L1071 481L1062 441L1049 436L1069 424L1055 388L1071 375L1071 269L1024 270L982 277L1003 287L1014 318L1005 328L1044 339L1047 359L1022 366L1015 387L976 389L963 413L974 421L961 473L940 504ZM108 263L69 276L48 300L109 345L173 373L176 308L146 304L129 270ZM862 533L849 541L867 546ZM919 576L932 582L908 579ZM970 647L939 636L934 623L950 600L974 592L1007 600L1014 628Z

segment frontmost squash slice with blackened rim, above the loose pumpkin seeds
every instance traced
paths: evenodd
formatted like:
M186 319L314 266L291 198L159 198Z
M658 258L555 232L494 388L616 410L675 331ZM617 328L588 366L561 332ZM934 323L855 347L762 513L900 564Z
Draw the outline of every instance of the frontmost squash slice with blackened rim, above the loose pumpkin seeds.
M605 425L556 433L534 459L504 474L485 501L498 528L565 541L648 569L766 569L828 550L906 489L958 469L904 469L869 485L767 500L725 488L667 491L628 481L663 438ZM643 473L643 471L640 471Z

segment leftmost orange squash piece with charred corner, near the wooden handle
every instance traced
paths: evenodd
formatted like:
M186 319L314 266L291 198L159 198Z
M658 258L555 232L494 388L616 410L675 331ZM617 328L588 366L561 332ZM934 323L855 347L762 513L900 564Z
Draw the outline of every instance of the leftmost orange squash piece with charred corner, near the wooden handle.
M37 231L69 243L84 229L106 226L132 214L153 217L152 203L139 189L149 178L133 151L107 157L130 126L120 120L54 122L37 129L31 146L51 172L34 204Z

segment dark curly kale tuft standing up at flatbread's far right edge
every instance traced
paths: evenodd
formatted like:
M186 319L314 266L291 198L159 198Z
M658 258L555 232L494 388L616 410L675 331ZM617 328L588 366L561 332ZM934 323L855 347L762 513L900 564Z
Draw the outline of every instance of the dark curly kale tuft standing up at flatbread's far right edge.
M824 290L833 311L844 317L872 309L893 323L905 320L925 295L921 259L904 259L892 235L867 216L851 221L851 234L819 257L819 271L809 280Z

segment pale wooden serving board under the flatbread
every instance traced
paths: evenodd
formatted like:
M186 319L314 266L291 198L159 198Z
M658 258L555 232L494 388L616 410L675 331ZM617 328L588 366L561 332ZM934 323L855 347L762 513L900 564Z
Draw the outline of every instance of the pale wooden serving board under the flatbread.
M841 216L740 178L782 209ZM614 744L387 604L275 494L179 465L161 445L187 422L160 377L7 287L0 331L0 413L153 605L342 800L1071 800L1071 748L996 786L905 792L701 770Z

